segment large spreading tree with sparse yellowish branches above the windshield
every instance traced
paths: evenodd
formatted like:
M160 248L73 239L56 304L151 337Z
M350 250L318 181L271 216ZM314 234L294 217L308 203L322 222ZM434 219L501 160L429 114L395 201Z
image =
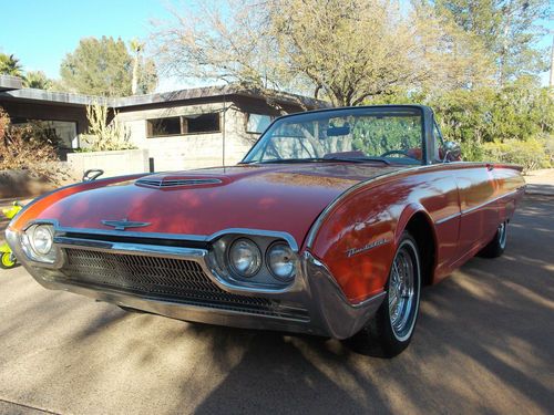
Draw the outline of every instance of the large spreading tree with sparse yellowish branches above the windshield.
M407 14L390 0L228 0L174 11L154 39L175 75L358 105L431 80L456 87L483 77L472 39L438 23L430 8Z

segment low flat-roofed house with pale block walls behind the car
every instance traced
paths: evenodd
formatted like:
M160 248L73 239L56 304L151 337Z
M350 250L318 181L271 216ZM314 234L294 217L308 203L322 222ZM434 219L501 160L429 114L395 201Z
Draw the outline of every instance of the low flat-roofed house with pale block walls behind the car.
M82 139L89 128L86 106L101 102L125 126L132 144L143 151L148 160L144 165L157 172L234 165L274 117L326 106L300 95L266 96L237 85L103 98L10 87L2 77L0 106L12 123L43 121L61 138L62 157L86 147Z

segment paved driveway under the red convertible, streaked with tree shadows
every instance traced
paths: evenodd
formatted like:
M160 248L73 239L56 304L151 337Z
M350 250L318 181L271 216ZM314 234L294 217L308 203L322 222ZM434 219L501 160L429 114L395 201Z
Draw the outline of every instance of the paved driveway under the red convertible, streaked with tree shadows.
M554 197L423 291L407 352L188 324L0 271L0 413L554 413Z

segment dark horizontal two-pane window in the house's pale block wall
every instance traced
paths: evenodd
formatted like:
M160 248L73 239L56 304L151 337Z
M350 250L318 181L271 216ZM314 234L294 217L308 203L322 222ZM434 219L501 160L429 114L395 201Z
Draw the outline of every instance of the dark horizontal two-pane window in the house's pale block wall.
M147 137L218 133L219 114L199 114L146 120Z

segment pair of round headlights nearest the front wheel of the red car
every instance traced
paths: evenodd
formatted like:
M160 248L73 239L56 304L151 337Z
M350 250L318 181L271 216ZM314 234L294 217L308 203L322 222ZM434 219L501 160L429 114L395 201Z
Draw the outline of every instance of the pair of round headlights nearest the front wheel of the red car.
M238 238L229 246L227 260L234 273L243 278L253 278L261 269L264 256L255 241ZM285 241L275 241L269 245L265 252L265 261L275 279L289 282L295 278L295 253Z

